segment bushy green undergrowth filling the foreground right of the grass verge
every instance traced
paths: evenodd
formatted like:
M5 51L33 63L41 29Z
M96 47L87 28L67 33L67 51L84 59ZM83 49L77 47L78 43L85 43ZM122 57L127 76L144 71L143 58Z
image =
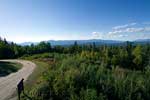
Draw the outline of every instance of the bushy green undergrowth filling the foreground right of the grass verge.
M110 69L77 54L51 64L28 95L33 100L149 100L149 75L150 66Z

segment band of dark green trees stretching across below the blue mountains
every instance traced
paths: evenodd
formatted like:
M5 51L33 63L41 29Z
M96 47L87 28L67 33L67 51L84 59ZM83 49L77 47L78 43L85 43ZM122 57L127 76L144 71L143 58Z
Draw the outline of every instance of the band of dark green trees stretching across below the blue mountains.
M95 43L78 45L75 42L71 46L51 46L48 42L40 42L37 45L20 46L0 38L0 59L18 58L45 52L78 54L93 63L104 63L108 68L120 66L143 70L143 66L150 63L150 44L133 45L131 42L126 42L124 45L118 46L97 46Z

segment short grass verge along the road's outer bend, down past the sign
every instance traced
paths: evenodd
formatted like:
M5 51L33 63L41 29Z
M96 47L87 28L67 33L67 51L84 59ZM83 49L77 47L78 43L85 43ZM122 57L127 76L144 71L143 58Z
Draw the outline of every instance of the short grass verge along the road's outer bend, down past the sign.
M29 60L36 64L36 68L34 69L33 73L28 77L28 79L24 83L24 94L21 95L21 100L32 100L30 95L30 91L43 82L43 74L49 67L55 63L55 60L62 59L66 55L65 54L58 54L58 53L42 53L42 54L34 54L34 55L24 55L19 59ZM16 94L13 97L17 96Z

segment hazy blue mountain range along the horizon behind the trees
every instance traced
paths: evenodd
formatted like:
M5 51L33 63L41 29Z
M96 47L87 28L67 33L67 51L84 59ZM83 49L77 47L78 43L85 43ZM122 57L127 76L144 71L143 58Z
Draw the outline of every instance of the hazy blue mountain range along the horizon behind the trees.
M117 40L101 40L101 39L90 39L90 40L48 40L45 42L51 43L52 46L55 45L62 45L62 46L69 46L73 45L74 42L77 42L79 45L83 44L93 44L95 43L96 45L119 45L119 44L124 44L126 41L117 41ZM131 41L134 44L145 44L145 43L150 43L150 39L138 39L135 41ZM38 44L39 42L24 42L21 43L20 45L26 46L26 45L31 45L31 44Z

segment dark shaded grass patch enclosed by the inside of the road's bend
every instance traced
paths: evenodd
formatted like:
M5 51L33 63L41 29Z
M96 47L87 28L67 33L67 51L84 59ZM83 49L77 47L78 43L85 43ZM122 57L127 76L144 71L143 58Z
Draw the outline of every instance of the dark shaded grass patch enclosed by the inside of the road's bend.
M11 73L17 72L21 67L22 64L20 63L0 61L0 77L7 76Z

